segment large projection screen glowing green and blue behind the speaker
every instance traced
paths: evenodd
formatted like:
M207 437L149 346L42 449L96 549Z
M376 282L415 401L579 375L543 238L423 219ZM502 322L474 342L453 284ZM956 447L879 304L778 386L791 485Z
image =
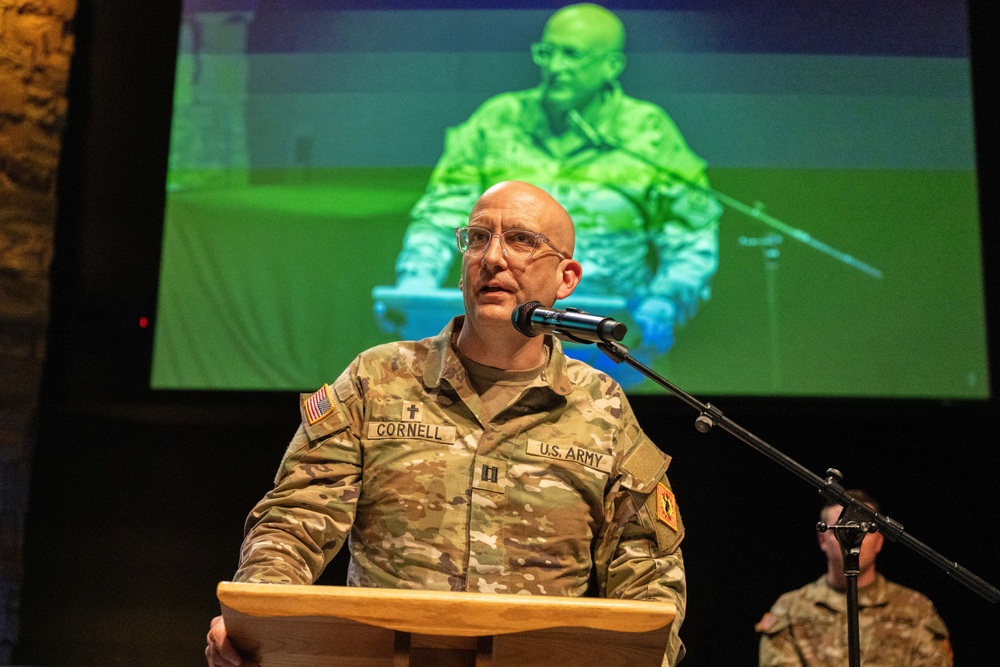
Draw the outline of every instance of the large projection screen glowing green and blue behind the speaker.
M577 226L556 307L687 390L989 396L962 3L240 4L185 5L154 388L308 391L437 333L514 178Z

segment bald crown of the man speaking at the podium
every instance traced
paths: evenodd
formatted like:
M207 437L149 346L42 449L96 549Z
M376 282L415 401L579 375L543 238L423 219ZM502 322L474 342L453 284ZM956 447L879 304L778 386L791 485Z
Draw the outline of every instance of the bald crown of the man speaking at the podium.
M487 211L510 220L530 220L534 228L566 257L573 256L576 232L566 209L545 190L524 181L503 181L482 194L469 215L469 224Z

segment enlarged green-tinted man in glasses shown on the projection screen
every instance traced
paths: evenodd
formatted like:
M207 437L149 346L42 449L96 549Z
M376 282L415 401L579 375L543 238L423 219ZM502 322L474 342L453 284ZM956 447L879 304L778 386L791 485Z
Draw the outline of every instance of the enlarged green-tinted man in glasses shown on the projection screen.
M709 297L722 209L700 189L706 164L666 112L622 90L624 46L622 22L603 7L570 5L549 18L531 46L540 84L498 95L448 130L411 211L398 288L442 286L454 229L479 195L500 181L527 180L576 221L586 276L577 296L622 300L640 335L633 356L671 347L674 325ZM601 365L595 353L586 359Z

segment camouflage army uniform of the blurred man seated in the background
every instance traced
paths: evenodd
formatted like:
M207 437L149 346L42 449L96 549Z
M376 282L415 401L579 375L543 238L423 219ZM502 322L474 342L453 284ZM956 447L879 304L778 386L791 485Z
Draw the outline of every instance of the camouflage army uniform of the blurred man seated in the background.
M861 664L950 667L948 628L931 601L882 575L858 591ZM847 600L824 575L785 593L757 624L761 667L847 667Z

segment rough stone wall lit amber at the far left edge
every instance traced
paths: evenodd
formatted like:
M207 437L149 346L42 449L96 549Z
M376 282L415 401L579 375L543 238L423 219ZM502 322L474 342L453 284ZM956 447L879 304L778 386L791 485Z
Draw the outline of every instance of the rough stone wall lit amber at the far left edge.
M0 664L18 631L76 0L0 0Z

